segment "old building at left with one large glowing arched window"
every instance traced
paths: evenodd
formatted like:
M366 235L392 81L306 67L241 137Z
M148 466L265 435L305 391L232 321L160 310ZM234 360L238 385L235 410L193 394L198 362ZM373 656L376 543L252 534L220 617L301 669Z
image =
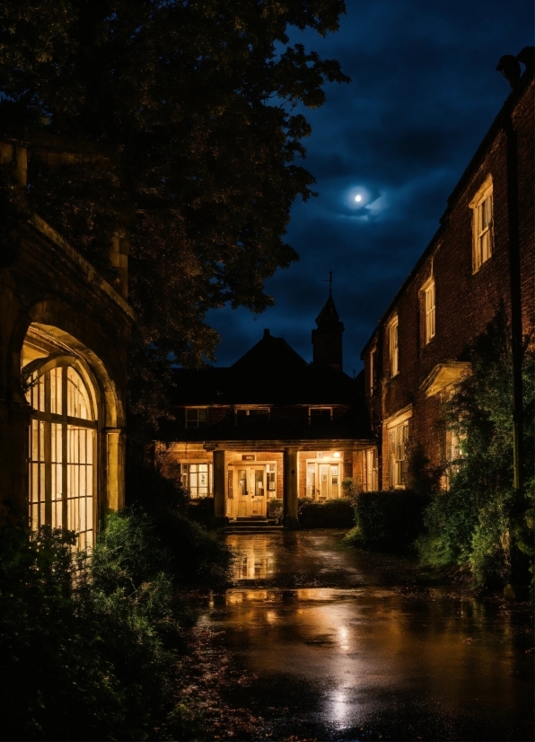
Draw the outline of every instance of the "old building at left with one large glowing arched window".
M0 521L29 514L32 528L77 531L83 547L124 504L127 245L110 234L112 286L24 206L31 157L53 167L106 155L43 134L0 141L22 204L0 254Z

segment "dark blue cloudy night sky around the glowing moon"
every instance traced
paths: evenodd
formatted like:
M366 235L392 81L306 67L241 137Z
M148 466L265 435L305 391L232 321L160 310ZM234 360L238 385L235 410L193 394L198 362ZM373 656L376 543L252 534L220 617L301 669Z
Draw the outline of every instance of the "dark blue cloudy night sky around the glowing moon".
M340 31L293 35L336 58L351 84L303 110L312 136L305 167L317 199L294 205L287 241L301 256L267 281L276 304L211 312L228 366L264 328L311 360L311 329L333 297L345 323L344 370L438 228L446 199L510 92L499 57L532 44L531 0L346 0ZM355 196L360 195L360 202Z

